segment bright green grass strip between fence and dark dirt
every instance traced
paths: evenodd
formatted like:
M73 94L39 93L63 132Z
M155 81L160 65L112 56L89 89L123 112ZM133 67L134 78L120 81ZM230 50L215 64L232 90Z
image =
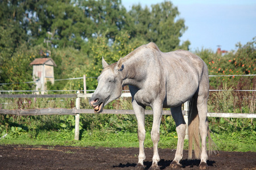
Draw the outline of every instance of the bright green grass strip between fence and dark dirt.
M80 141L75 141L73 137L63 139L65 134L57 131L43 131L39 133L37 139L31 139L28 135L23 134L16 138L0 139L0 145L50 145L50 146L77 146L77 147L138 147L139 142L137 133L119 132L108 133L106 131L86 131L82 134ZM69 136L69 135L66 135ZM232 138L228 134L212 134L213 141L221 151L253 151L256 152L256 143L246 142L245 140ZM251 138L254 139L255 137ZM177 137L174 135L160 136L159 148L176 148ZM150 133L146 133L144 147L152 147ZM184 149L188 148L188 140L185 140Z

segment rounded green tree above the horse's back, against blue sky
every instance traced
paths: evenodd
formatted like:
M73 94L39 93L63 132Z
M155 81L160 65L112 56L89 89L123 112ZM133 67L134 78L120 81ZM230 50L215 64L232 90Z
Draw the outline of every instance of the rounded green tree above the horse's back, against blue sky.
M179 38L187 29L184 19L176 19L179 15L177 7L171 2L162 2L152 5L152 10L146 6L134 5L129 11L133 18L134 29L131 35L133 37L143 37L146 41L155 42L163 52L169 52L174 49L188 49L189 41L185 41L179 46Z

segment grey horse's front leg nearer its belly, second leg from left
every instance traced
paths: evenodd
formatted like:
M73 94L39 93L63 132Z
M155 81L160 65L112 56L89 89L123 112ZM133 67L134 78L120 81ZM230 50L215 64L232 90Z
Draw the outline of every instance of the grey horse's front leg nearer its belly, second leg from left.
M155 104L152 107L152 109L153 109L153 125L151 130L151 139L153 142L154 155L152 158L152 165L150 169L160 169L158 167L158 162L160 160L159 154L158 154L158 142L160 139L159 129L160 129L163 105L162 103Z

